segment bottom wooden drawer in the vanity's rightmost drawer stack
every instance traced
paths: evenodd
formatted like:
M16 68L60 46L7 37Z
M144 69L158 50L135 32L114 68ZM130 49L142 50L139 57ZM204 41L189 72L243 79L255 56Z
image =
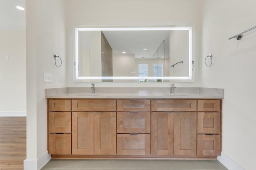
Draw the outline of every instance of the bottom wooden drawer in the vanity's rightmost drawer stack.
M220 135L197 135L197 155L220 155Z

